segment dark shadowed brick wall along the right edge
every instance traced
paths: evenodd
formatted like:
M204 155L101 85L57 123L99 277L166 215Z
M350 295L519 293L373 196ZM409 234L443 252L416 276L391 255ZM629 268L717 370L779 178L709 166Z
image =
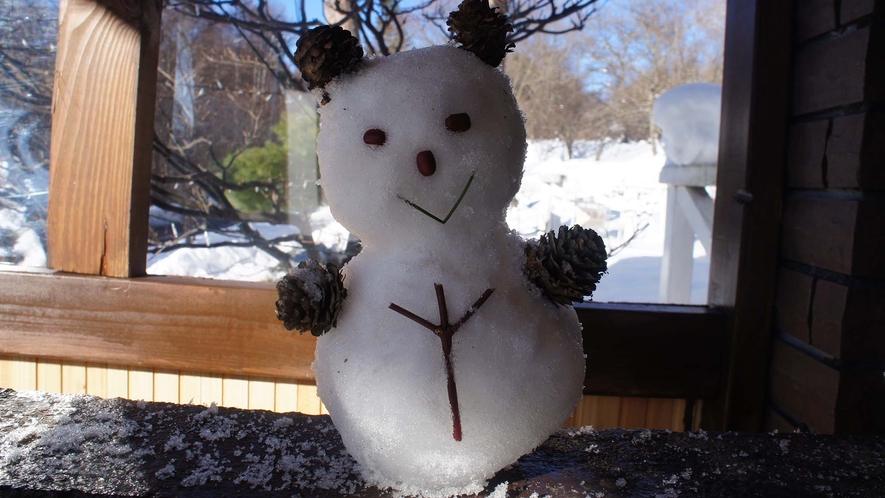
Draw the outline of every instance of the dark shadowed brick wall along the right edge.
M794 4L765 425L885 432L885 2Z

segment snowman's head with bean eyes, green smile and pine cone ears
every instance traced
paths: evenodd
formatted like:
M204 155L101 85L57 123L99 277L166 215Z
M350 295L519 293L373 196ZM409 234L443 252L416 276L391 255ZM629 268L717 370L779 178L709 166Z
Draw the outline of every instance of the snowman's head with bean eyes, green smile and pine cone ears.
M503 33L498 38L495 65L508 49ZM503 224L526 139L503 72L452 45L366 59L352 37L320 40L319 52L316 45L300 40L301 60L340 68L308 80L323 103L320 182L340 223L368 245L476 238ZM489 52L494 44L480 45ZM302 74L311 72L302 65Z

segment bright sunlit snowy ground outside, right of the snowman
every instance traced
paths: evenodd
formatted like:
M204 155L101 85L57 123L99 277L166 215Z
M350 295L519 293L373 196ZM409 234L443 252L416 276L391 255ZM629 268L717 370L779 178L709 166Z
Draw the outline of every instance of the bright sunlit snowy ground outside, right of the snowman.
M632 142L606 145L597 161L596 147L579 144L568 159L558 142L531 143L507 222L525 237L578 223L599 232L610 251L626 243L609 258L593 300L660 302L667 187L658 175L666 158L660 146L655 155L647 142ZM590 216L600 207L608 213L604 220ZM694 257L691 302L705 303L710 263L700 243Z

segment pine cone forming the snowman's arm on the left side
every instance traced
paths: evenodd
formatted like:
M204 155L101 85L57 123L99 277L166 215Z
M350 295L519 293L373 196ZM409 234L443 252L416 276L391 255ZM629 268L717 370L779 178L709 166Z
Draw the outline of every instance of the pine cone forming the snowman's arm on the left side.
M277 282L277 293L277 319L286 330L310 331L317 337L337 326L347 298L338 267L323 266L313 259L302 261Z

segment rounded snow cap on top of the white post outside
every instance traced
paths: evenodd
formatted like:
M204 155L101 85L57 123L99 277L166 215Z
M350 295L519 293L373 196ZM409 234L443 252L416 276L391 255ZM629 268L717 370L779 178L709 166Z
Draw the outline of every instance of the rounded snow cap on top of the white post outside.
M669 163L716 164L721 106L722 86L715 83L689 83L658 97L654 123L661 128Z

